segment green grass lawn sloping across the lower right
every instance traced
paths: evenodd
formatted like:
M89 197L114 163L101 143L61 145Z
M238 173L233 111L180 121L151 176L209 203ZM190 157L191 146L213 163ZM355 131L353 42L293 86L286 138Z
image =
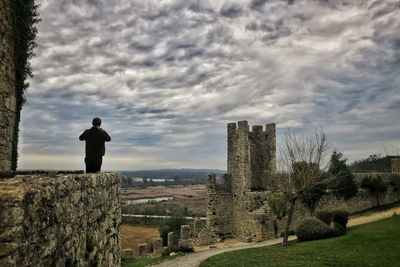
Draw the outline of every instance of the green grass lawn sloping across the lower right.
M208 266L400 266L400 216L353 227L337 238L220 254L200 265Z

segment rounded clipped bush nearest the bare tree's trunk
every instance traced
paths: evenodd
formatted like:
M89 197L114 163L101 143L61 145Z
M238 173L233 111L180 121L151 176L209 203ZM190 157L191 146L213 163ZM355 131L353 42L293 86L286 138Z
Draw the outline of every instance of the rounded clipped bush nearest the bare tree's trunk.
M306 218L297 226L296 236L299 241L317 240L329 237L331 229L317 218Z

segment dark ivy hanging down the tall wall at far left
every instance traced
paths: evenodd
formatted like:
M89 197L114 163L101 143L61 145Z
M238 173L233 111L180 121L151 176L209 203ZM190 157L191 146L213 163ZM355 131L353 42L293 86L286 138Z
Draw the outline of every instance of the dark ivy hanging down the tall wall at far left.
M25 103L25 91L29 87L28 78L32 77L29 60L34 56L36 47L36 24L40 21L38 5L35 0L10 0L13 18L14 64L15 64L15 97L16 116L14 123L14 138L12 148L12 170L17 169L18 135L21 109Z

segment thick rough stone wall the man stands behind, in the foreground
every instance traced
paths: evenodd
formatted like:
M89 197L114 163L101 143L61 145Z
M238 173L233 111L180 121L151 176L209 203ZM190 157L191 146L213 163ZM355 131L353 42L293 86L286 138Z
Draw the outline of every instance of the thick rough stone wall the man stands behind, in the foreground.
M0 266L120 266L121 177L0 180Z

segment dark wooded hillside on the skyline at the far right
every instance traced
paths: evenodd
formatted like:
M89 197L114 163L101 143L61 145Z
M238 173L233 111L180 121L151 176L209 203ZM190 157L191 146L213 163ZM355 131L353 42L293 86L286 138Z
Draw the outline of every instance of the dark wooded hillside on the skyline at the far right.
M392 171L392 158L398 156L385 156L370 155L366 159L361 159L350 164L350 168L356 173L373 173L373 172L391 172Z

